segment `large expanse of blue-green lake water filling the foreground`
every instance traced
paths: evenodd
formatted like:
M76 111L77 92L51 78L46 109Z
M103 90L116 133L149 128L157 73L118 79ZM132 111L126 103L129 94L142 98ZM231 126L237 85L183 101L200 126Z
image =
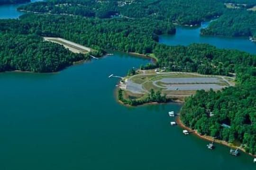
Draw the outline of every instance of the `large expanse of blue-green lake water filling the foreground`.
M255 170L247 154L170 126L180 103L117 102L108 76L148 62L116 52L57 73L0 73L0 170Z

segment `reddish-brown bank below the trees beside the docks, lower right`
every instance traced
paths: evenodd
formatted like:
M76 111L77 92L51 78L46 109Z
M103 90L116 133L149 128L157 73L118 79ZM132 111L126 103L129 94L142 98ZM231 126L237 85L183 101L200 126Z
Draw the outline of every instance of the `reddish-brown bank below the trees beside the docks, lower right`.
M188 130L188 131L192 131L192 130L193 130L193 129L191 129L191 128L189 128L189 127L187 127L187 126L185 126L185 125L183 124L183 122L182 122L181 119L180 119L180 116L177 116L176 122L177 122L177 124L178 124L180 127L184 128L184 129L186 129L186 130ZM195 129L194 129L194 130L195 130ZM222 145L224 145L224 146L228 146L229 148L233 148L233 149L236 148L236 149L238 149L238 150L240 150L240 151L242 151L242 152L244 152L244 153L246 153L246 154L248 154L248 155L250 155L250 156L256 158L256 155L253 155L253 154L251 154L251 153L246 152L245 149L242 148L242 147L240 147L240 146L239 146L239 147L238 147L238 146L234 146L232 143L228 143L228 142L223 141L223 140L213 139L211 136L208 136L208 135L200 135L200 134L197 133L197 130L195 130L195 132L193 132L193 134L196 135L197 137L203 139L203 140L206 140L206 141L210 141L210 142L214 142L214 143L219 143L219 144L222 144Z

